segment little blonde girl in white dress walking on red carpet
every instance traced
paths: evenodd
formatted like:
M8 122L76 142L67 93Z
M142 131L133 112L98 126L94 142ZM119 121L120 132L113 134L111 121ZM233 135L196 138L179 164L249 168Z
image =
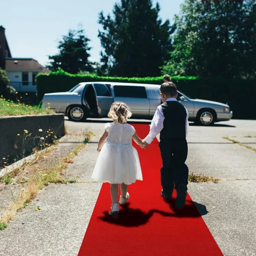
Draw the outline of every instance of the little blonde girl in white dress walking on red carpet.
M128 185L136 180L142 181L139 156L131 141L133 139L138 145L142 145L143 142L137 136L134 127L127 124L127 119L131 115L125 103L114 102L108 114L114 122L104 125L105 131L97 148L100 154L92 178L98 182L110 183L112 199L110 215L119 213L118 184L121 190L119 203L125 204L130 197L127 192Z

